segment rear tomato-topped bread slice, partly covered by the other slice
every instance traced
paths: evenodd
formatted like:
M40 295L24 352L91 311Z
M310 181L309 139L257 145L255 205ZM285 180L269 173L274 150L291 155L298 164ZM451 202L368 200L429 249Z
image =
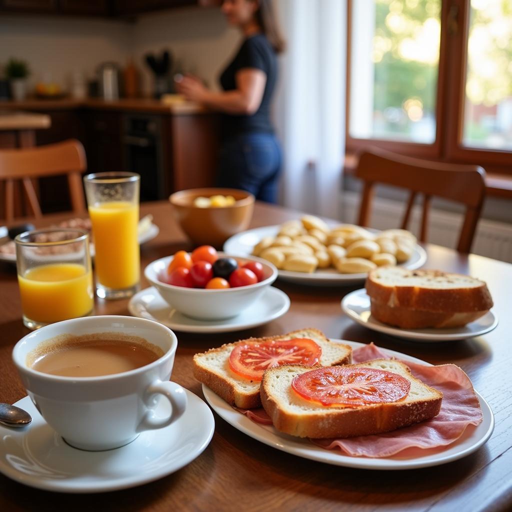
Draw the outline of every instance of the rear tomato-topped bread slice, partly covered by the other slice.
M306 364L306 368L347 365L349 345L331 342L318 329L248 338L194 356L194 376L222 399L241 409L261 407L263 372L273 365Z

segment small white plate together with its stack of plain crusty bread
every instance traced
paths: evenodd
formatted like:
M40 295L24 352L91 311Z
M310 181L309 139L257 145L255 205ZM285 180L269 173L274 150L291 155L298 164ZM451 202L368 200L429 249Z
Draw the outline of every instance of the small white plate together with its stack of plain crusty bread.
M467 275L381 267L368 274L365 286L347 294L342 309L378 332L441 342L480 336L498 325L487 285Z

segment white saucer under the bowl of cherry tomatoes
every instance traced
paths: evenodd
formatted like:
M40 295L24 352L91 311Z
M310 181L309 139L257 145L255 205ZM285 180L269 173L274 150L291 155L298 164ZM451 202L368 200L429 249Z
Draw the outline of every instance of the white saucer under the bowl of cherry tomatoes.
M130 313L139 318L154 320L175 331L203 333L240 331L268 324L283 316L289 308L288 295L272 286L239 315L218 321L197 320L176 311L163 300L153 286L136 293L128 304Z

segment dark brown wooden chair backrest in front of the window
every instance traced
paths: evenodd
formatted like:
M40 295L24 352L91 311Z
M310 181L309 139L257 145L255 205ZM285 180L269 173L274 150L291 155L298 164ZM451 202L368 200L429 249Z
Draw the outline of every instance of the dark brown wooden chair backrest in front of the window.
M470 252L485 197L485 171L482 167L418 160L372 149L360 155L355 175L364 181L358 219L360 226L369 223L377 183L406 188L410 190L410 196L401 228L407 229L418 194L423 195L421 242L426 242L427 238L432 196L462 203L466 206L466 213L457 250Z

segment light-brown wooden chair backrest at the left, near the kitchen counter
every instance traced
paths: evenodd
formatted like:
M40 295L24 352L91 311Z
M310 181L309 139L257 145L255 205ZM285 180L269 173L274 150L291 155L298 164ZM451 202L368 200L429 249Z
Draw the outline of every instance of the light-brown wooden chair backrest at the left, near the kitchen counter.
M23 183L28 202L35 218L42 216L32 180L46 176L67 175L71 205L76 213L83 212L81 173L87 169L86 154L78 140L29 149L0 150L0 182L4 182L5 218L14 218L14 183Z

